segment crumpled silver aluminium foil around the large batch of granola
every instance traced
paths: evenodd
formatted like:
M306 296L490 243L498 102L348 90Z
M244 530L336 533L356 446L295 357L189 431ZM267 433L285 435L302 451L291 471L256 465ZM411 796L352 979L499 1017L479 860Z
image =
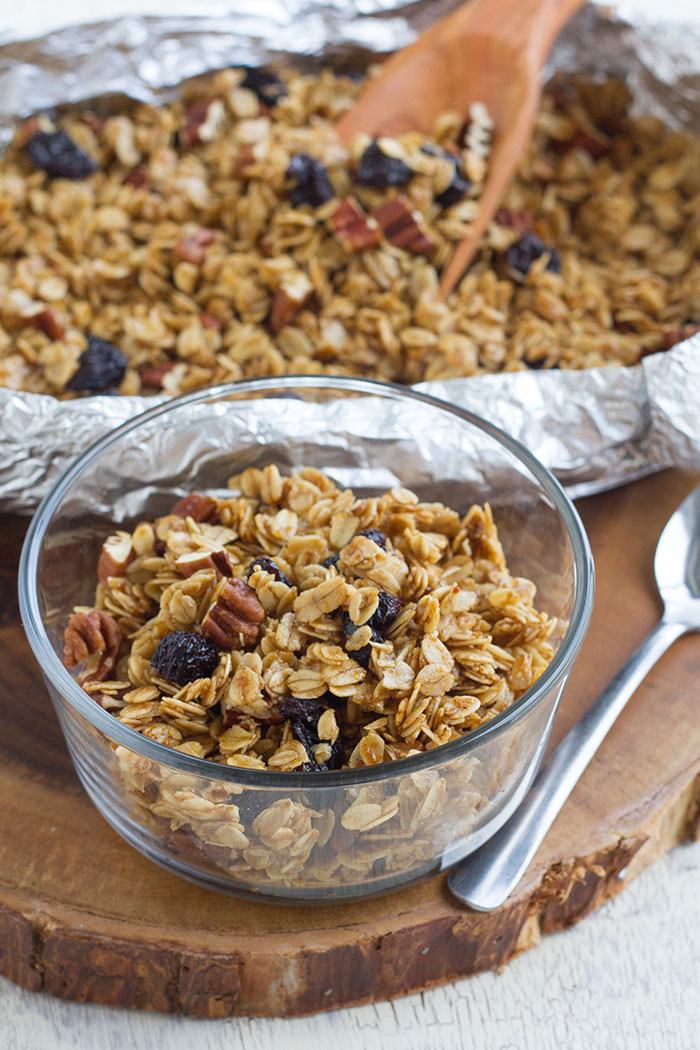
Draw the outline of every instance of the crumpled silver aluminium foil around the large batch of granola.
M229 0L195 17L127 17L0 47L0 145L18 117L127 94L158 102L209 69L283 60L361 64L401 47L457 0ZM547 75L623 74L637 111L700 126L700 22L644 22L624 5L584 8ZM629 369L522 372L421 383L533 452L573 497L666 466L700 467L700 336ZM76 401L0 390L0 506L33 511L58 475L106 430L157 398Z

